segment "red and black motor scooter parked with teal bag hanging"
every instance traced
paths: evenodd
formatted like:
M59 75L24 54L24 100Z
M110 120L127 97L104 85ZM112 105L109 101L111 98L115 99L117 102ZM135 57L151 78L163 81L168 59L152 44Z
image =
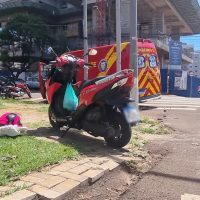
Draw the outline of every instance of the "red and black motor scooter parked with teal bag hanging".
M53 51L53 49L51 49ZM95 50L89 52L94 54ZM54 51L53 51L54 52ZM92 67L83 59L70 54L57 56L50 65L39 64L39 80L43 97L49 106L49 121L54 128L68 126L83 129L91 135L105 138L109 146L121 148L131 139L131 124L136 123L136 110L130 105L133 87L132 70L122 70L107 77L76 82L76 72L83 67ZM42 79L41 69L51 68L47 79ZM77 110L63 108L63 99L68 83L78 97ZM44 88L45 86L45 88Z

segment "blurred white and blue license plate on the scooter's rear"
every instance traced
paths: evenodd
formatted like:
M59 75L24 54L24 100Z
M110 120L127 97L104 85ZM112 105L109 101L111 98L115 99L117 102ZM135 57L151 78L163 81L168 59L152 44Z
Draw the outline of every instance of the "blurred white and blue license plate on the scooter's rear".
M123 112L128 123L136 124L140 121L140 114L135 106L128 105L123 108Z

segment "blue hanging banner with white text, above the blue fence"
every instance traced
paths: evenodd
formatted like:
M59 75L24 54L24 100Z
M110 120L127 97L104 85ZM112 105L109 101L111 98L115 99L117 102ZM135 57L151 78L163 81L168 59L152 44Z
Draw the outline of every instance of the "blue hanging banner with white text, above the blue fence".
M182 43L171 40L169 42L169 64L181 66Z

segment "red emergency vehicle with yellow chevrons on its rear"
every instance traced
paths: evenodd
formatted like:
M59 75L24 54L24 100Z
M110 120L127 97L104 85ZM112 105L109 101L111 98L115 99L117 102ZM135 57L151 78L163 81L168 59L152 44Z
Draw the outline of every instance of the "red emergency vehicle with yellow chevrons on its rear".
M88 62L94 67L88 71L88 78L106 76L116 72L116 45L105 45L95 48L96 56L89 56ZM68 52L77 57L83 56L83 50ZM130 43L121 45L122 69L130 67ZM157 50L149 39L138 39L138 81L140 100L159 96L161 94L160 66ZM77 81L84 79L84 70L80 70Z

